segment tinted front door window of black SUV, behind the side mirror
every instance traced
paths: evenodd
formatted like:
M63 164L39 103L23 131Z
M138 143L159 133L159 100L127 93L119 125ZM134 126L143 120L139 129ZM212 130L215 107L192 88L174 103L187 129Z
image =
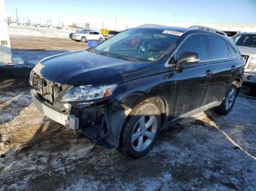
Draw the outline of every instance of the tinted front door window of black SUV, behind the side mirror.
M208 60L206 36L203 34L189 36L189 38L178 49L177 56L179 57L183 52L197 52L200 61Z

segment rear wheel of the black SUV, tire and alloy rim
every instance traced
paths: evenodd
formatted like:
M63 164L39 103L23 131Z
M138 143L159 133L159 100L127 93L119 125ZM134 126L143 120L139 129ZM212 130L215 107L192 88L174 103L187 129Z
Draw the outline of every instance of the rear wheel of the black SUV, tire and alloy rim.
M214 109L215 112L223 115L228 114L235 104L237 91L236 85L232 84L230 88L228 88L222 104Z

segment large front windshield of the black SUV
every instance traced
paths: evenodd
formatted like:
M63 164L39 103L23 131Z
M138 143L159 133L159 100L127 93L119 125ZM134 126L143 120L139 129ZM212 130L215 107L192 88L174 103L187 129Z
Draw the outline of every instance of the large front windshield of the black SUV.
M157 61L173 48L178 38L159 29L132 28L102 42L94 52L124 59Z

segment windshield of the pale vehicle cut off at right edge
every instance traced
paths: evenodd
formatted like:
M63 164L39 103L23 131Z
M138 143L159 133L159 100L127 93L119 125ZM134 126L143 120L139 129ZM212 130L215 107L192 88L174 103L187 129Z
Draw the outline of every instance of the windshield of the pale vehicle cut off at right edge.
M256 47L256 34L238 34L233 39L236 46Z

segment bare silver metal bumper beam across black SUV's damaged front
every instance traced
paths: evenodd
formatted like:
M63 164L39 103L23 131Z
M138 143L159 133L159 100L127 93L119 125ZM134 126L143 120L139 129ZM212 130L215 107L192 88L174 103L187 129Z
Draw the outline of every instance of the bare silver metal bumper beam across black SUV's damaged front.
M34 90L31 90L31 98L37 109L43 114L45 114L45 116L49 117L53 121L59 122L61 125L64 125L67 128L71 128L72 130L78 130L78 117L75 117L75 115L72 114L62 114L60 112L56 112L53 109L50 109L50 107L46 106L45 104L42 104L42 102L39 101L39 97Z

